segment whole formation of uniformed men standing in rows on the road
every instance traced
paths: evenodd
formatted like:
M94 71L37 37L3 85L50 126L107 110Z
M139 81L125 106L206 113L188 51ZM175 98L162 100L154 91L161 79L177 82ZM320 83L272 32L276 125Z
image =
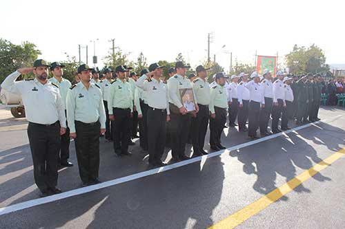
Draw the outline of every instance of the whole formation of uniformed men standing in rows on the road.
M288 130L288 120L296 119L297 124L319 120L319 75L290 78L279 71L273 78L265 70L262 76L253 72L248 79L249 75L242 72L229 80L218 72L209 84L207 68L199 65L196 74L186 76L190 66L177 61L168 69L167 81L162 77L166 66L158 63L142 69L139 76L123 65L114 71L106 68L105 79L100 80L98 69L83 64L72 85L63 78L63 67L39 59L33 67L10 74L1 85L23 98L34 180L41 196L61 193L57 171L59 167L73 166L68 162L70 138L75 139L81 185L88 186L101 182L99 137L103 135L112 142L117 157L132 155L128 145L139 137L148 164L164 166L161 156L166 145L170 145L172 162L190 158L185 153L189 139L192 157L208 154L204 150L208 126L210 149L226 149L221 144L221 133L227 116L229 127L238 125L239 131L248 131L250 139L258 138L257 129L261 136ZM48 69L52 74L49 80ZM30 72L34 80L16 82L21 74ZM186 106L186 102L193 106Z

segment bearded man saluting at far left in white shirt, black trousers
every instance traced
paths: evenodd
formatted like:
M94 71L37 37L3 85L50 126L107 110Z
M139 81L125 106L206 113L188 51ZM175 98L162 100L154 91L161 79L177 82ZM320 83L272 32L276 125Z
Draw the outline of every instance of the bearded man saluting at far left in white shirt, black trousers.
M41 197L61 193L57 188L60 135L66 133L66 116L59 88L48 81L48 63L41 59L33 67L23 67L10 74L1 87L20 94L26 109L28 138L34 164L34 182ZM34 80L16 79L33 72ZM61 126L61 127L60 127Z

